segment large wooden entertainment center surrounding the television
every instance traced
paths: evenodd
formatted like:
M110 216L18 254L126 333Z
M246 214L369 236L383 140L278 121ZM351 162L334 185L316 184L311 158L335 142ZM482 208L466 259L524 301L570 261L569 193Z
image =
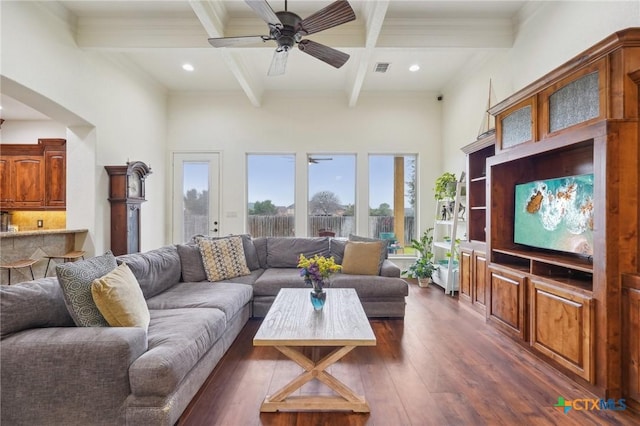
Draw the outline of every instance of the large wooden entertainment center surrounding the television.
M637 406L640 28L609 36L490 113L495 134L463 148L460 301L596 395ZM593 174L593 255L514 243L515 185L583 174Z

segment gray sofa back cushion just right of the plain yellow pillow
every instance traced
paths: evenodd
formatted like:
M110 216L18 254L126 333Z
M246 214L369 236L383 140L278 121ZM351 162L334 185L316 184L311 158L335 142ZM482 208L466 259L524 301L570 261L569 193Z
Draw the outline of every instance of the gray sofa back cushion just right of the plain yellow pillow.
M180 281L182 269L176 246L164 246L144 253L118 256L136 276L142 294L148 299Z

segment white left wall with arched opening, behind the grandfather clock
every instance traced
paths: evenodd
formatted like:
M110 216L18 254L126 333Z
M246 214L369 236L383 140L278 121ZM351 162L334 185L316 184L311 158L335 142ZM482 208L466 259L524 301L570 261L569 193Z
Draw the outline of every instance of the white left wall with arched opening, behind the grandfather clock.
M2 2L3 93L67 129L61 136L68 144L67 226L88 228L89 244L96 253L108 249L110 241L104 166L127 160L151 164L149 201L142 207L142 247L159 247L167 241L162 179L166 175L166 94L135 70L78 49L73 25L57 7L47 2ZM41 128L43 134L35 128L25 130L28 123L22 129L14 124L5 123L7 133L13 127L16 137L52 137ZM10 142L8 138L3 137Z

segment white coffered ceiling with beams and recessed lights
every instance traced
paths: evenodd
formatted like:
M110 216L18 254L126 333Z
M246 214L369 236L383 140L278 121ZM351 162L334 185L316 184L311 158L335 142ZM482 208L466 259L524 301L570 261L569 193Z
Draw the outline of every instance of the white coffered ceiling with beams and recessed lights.
M302 18L332 1L289 0ZM439 92L497 51L512 46L532 1L350 0L356 20L308 39L351 55L335 69L298 49L286 73L267 76L275 42L213 48L209 37L267 35L242 0L43 2L76 29L81 49L130 64L168 92L242 91L255 106L271 92L342 92L354 106L363 92ZM274 11L284 0L270 0ZM183 64L194 67L191 72ZM376 64L389 63L386 73ZM409 71L417 64L420 70Z

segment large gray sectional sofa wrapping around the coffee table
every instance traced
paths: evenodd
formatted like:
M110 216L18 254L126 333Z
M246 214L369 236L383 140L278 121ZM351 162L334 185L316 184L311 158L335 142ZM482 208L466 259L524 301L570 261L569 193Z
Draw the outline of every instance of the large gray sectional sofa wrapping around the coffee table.
M203 277L195 244L117 258L135 275L148 330L76 327L57 278L0 288L0 423L3 425L172 425L251 316L266 314L278 290L304 287L304 253L334 255L329 238L243 237L248 275ZM369 317L403 317L408 287L382 261L377 276L335 274Z

